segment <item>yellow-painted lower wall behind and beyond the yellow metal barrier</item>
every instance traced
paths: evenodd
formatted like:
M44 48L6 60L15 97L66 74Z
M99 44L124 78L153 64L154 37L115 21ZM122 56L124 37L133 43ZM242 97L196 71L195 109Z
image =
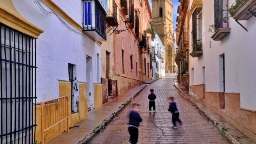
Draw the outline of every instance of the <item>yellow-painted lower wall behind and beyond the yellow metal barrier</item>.
M79 120L83 119L88 114L88 85L86 83L79 83L79 112L77 113L71 113L71 106L70 106L70 82L63 82L59 81L59 90L60 90L60 97L61 96L68 96L69 97L69 125L72 126L75 123L77 123ZM42 142L41 138L41 106L42 104L36 105L36 131L35 131L35 139L39 143ZM55 105L53 105L51 108L48 108L48 110L51 110L51 113L55 113L57 111L57 108ZM45 123L48 123L48 120L46 118ZM57 124L55 127L51 128L50 130L46 131L45 133L45 142L51 140L53 137L56 137L57 135L63 133L63 131L67 130L67 120L64 120L63 122Z

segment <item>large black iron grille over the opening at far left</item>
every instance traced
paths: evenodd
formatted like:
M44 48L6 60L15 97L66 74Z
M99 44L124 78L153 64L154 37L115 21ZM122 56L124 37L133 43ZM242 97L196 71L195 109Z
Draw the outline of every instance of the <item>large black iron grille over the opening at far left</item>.
M0 23L0 44L0 142L32 144L35 141L35 39Z

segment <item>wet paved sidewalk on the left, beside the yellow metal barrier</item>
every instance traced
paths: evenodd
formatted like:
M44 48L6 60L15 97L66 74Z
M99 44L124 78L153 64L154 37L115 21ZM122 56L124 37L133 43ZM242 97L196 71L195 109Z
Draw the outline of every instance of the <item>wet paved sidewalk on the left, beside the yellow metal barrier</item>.
M158 79L151 81L154 82ZM148 83L148 82L147 82ZM97 110L88 113L88 116L70 128L70 133L63 132L47 142L47 144L85 144L91 140L113 117L130 103L147 85L141 84L130 89L122 96L105 103Z

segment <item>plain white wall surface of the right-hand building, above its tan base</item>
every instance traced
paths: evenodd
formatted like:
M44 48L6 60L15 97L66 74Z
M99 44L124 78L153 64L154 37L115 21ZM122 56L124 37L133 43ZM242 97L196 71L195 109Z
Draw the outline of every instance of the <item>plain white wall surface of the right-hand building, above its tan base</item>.
M235 0L229 1L229 6ZM189 72L194 68L194 84L202 84L202 67L205 66L206 91L219 92L219 55L225 55L225 92L240 93L241 107L256 110L256 18L251 17L247 21L239 21L248 32L230 17L231 34L222 41L214 41L210 38L213 33L207 29L214 24L214 1L203 0L203 55L199 58L189 56ZM192 26L192 17L189 21ZM189 31L192 29L190 27ZM192 41L190 34L190 41ZM211 48L210 48L211 41ZM192 42L189 44L189 53L192 52ZM190 77L191 80L191 77Z

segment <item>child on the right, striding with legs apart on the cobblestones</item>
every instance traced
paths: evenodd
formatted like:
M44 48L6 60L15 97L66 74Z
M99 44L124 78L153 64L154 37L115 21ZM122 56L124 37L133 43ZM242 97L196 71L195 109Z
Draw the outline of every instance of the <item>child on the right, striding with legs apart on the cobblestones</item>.
M176 106L176 103L174 102L174 97L168 97L168 103L169 103L169 109L168 111L170 111L172 113L172 123L173 123L173 129L177 128L177 124L176 122L178 121L179 122L179 126L182 126L182 122L181 120L179 119L179 110Z

